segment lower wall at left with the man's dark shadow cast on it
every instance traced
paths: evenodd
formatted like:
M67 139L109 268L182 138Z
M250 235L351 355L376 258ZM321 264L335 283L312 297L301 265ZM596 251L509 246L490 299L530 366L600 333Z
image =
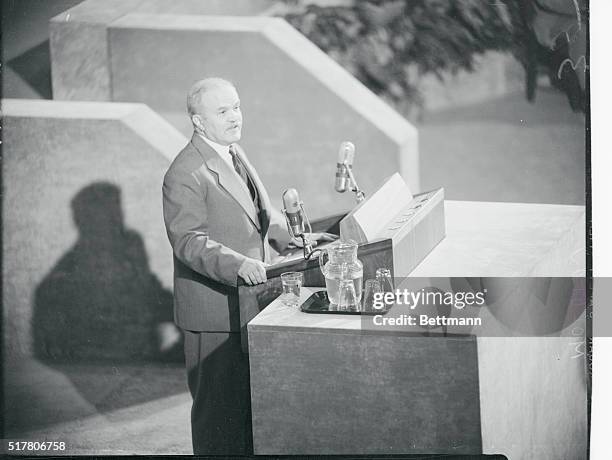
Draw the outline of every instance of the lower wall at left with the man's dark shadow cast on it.
M185 138L142 104L2 106L7 357L151 356L172 321L161 183Z

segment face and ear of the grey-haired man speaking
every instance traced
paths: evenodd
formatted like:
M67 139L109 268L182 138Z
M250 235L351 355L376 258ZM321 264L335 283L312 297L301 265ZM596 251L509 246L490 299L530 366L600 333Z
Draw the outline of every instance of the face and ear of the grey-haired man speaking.
M211 141L221 145L238 142L242 135L242 112L236 89L220 86L202 96L198 126Z

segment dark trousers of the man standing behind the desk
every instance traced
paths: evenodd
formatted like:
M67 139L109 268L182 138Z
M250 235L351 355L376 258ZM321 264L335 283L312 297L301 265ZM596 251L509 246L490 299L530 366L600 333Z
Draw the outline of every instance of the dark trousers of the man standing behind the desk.
M185 332L195 455L252 455L248 356L239 332Z

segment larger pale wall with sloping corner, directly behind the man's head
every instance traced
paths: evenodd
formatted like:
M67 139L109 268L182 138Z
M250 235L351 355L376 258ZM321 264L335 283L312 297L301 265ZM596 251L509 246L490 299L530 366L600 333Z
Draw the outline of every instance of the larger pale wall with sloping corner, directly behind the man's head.
M77 69L104 47L112 87L81 75L63 89L54 80L56 97L144 102L189 135L186 91L203 76L225 76L243 102L242 144L279 207L288 187L300 191L311 217L354 206L353 196L333 190L343 140L357 147L355 172L366 192L396 171L419 189L414 127L282 19L126 14L108 25L108 44L98 26L71 21L51 23L53 59L78 46L73 28L91 29L91 52L61 54L54 69Z

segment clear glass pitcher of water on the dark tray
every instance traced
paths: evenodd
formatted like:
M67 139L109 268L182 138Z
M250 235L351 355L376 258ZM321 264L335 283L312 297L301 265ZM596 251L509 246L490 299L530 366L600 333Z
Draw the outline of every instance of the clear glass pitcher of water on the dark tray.
M363 264L357 259L357 243L353 240L338 241L322 250L319 256L321 273L325 277L325 287L330 303L340 302L340 281L351 280L355 285L356 302L361 302L363 288ZM324 263L325 259L328 259Z

